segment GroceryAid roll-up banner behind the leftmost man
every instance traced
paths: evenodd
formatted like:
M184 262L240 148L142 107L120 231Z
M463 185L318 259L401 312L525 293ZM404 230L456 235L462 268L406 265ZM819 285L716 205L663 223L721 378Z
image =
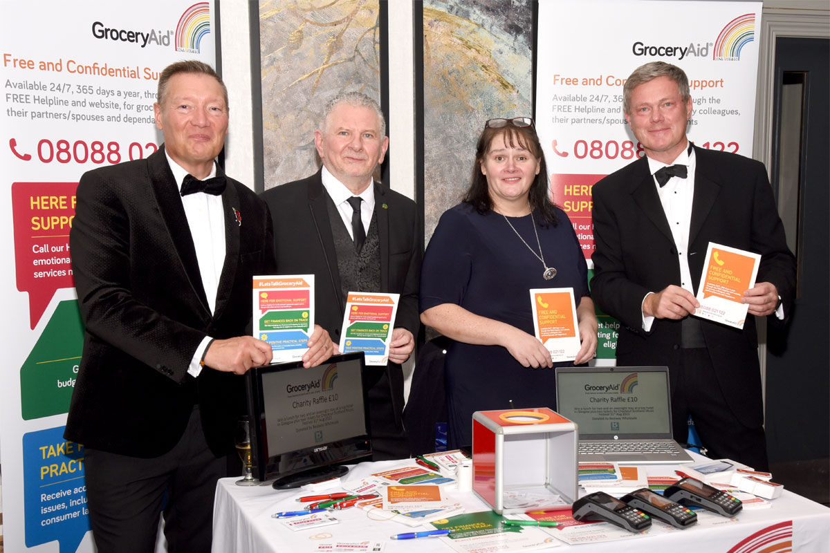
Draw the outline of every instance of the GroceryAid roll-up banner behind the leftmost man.
M173 61L215 65L209 2L17 2L0 17L0 364L6 551L93 551L84 447L63 439L83 326L70 263L77 182L146 158Z

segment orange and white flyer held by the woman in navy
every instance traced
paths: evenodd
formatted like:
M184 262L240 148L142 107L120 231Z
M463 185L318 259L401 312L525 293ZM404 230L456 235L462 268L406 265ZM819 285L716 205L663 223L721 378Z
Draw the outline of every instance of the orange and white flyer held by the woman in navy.
M554 363L574 361L579 353L579 327L573 288L530 290L533 329Z

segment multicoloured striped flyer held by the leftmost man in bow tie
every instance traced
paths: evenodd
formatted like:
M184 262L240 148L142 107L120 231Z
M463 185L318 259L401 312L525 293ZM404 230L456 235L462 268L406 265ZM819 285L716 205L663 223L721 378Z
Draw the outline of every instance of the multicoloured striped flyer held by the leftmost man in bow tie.
M299 361L314 332L314 275L255 276L254 337L271 344L272 363Z

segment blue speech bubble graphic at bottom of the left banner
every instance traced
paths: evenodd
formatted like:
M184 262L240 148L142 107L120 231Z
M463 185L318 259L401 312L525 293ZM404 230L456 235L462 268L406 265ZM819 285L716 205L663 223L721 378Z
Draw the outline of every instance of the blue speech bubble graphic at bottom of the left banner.
M26 546L57 540L61 553L74 553L90 530L84 446L66 441L63 429L23 434Z

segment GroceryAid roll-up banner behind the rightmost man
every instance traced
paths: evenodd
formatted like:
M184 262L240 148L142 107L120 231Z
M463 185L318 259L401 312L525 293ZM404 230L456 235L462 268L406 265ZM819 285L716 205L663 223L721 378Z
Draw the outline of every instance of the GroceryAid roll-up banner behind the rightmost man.
M694 108L689 139L701 148L751 157L761 7L762 2L540 2L536 129L551 195L574 225L588 269L594 248L591 188L644 155L623 113L623 84L637 67L649 61L681 67ZM599 312L598 320L597 357L613 359L619 323Z

